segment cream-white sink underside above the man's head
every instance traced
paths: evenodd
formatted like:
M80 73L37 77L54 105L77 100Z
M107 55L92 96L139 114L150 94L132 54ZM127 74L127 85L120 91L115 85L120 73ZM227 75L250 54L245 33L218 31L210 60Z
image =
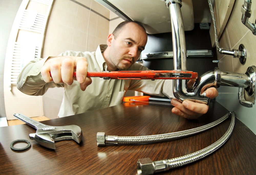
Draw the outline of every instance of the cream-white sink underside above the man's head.
M108 0L134 21L142 22L147 33L171 32L169 9L161 0ZM192 0L182 0L182 17L184 30L194 29L194 15Z

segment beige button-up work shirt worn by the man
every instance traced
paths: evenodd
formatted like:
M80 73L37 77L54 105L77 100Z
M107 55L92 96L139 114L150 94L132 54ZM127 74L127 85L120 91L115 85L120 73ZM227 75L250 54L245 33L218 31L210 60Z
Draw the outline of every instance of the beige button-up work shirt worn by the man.
M88 72L107 71L102 52L107 45L99 45L95 52L66 51L59 56L84 57L88 62ZM151 95L173 98L173 80L137 80L110 79L92 77L92 84L85 91L80 89L79 83L72 85L46 83L41 78L40 70L47 58L35 59L29 62L17 79L17 88L28 95L43 95L48 88L64 87L64 96L59 110L59 117L80 114L122 103L127 90L136 90ZM149 70L138 63L133 64L129 71Z

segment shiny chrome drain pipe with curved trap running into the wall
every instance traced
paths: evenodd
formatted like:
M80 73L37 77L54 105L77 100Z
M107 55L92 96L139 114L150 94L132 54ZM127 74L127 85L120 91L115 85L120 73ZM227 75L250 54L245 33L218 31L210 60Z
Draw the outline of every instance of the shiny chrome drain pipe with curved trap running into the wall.
M181 0L164 0L164 2L166 7L169 9L171 18L174 70L187 70L185 32L180 10L182 7ZM212 7L210 2L209 6ZM214 19L213 10L211 9L211 11ZM217 38L216 45L216 47L219 48ZM220 85L224 85L244 88L247 91L248 96L252 98L251 101L254 99L254 104L256 76L255 66L249 67L248 70L250 71L247 71L245 74L239 74L224 72L220 71L219 68L215 68L214 70L208 71L197 78L191 89L187 88L186 80L173 80L173 95L179 101L191 100L198 103L209 104L210 99L206 97L206 90L210 87L218 88ZM248 105L245 104L244 106Z

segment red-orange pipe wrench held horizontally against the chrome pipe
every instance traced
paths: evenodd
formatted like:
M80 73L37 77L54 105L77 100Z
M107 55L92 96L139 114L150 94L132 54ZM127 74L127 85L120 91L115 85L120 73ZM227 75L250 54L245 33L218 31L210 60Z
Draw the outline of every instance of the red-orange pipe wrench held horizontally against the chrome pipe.
M76 72L73 73L76 77ZM196 72L192 71L112 71L88 72L87 77L101 77L103 79L196 79Z

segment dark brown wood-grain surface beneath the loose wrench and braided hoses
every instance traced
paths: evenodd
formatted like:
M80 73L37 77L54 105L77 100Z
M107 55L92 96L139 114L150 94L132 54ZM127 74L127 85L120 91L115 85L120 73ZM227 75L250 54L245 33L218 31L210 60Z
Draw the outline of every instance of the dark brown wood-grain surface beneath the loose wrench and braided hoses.
M204 149L226 132L230 118L194 136L144 145L97 146L97 132L117 136L144 136L177 132L213 122L229 111L215 101L207 114L187 120L172 114L172 106L124 103L74 116L43 121L46 125L78 125L83 132L80 144L73 140L56 142L47 149L29 139L35 129L27 125L0 127L1 174L136 174L137 160L170 159ZM17 111L15 112L17 113ZM31 142L27 151L16 152L10 143L17 139ZM236 118L229 140L211 155L182 167L155 174L255 174L256 136Z

